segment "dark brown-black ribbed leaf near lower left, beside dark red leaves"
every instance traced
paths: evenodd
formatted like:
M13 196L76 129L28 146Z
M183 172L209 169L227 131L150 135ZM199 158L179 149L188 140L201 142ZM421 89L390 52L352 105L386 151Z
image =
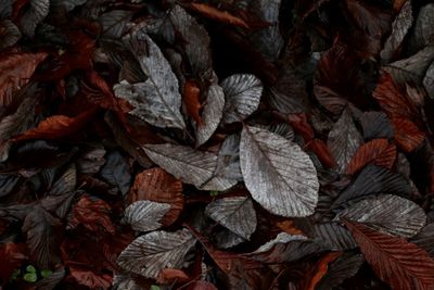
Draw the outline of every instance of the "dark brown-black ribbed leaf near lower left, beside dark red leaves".
M22 229L27 235L27 247L41 268L51 268L60 262L56 255L56 228L60 225L60 220L41 206L35 206L24 219Z

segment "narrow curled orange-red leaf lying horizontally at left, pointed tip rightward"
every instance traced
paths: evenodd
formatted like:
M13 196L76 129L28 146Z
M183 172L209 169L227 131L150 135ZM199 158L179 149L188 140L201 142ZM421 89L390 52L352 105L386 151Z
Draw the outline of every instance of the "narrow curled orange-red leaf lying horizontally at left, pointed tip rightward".
M34 129L23 133L14 138L14 141L29 139L58 139L77 133L97 111L90 110L75 116L54 115L46 118Z

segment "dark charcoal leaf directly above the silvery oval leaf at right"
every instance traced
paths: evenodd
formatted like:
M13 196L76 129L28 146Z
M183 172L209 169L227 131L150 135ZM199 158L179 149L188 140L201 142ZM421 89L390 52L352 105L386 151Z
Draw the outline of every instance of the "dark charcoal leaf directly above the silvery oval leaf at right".
M360 172L356 180L339 196L333 206L376 193L408 197L411 191L410 185L403 175L375 165L368 165Z

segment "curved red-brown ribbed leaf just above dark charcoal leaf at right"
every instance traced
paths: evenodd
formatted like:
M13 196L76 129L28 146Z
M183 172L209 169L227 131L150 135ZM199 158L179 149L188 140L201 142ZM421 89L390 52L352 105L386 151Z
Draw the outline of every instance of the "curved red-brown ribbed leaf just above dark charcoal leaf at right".
M391 168L395 159L396 146L388 144L386 139L373 139L357 149L346 167L346 173L353 175L369 163Z

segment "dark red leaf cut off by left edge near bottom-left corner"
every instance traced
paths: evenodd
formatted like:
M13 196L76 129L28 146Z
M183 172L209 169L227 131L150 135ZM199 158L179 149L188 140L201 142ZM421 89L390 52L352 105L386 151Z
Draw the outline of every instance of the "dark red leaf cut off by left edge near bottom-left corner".
M0 279L3 283L9 281L12 273L27 259L25 251L24 243L8 242L0 245Z

